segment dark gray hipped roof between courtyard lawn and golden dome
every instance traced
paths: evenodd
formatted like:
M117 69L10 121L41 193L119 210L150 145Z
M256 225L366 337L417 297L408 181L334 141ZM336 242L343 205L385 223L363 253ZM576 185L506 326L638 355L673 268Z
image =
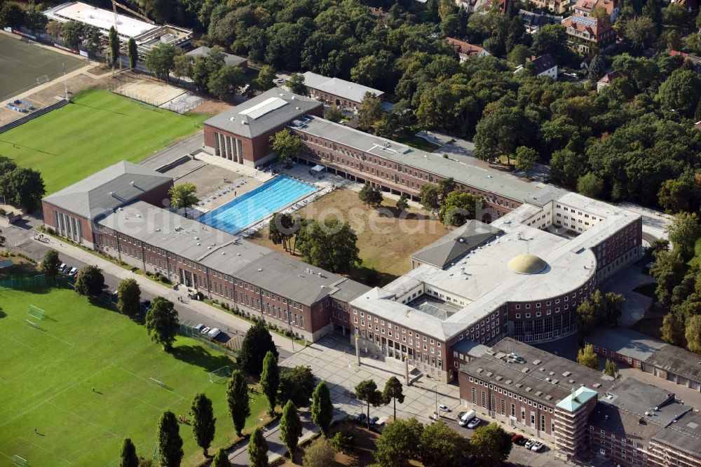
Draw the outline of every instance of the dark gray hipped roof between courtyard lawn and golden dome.
M433 266L443 269L445 266L456 262L457 259L463 257L470 250L477 248L499 234L503 234L501 229L496 229L473 219L430 245L421 248L414 255L411 255L411 259L433 264Z

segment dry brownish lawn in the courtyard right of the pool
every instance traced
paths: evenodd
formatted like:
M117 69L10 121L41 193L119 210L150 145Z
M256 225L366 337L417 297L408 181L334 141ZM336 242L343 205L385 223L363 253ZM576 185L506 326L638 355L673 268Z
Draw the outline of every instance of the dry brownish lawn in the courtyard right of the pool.
M405 219L398 217L395 201L385 200L385 209L369 209L358 199L358 193L349 189L337 189L318 201L301 208L294 215L308 219L339 219L350 222L358 235L358 248L362 266L351 277L363 283L369 268L379 272L377 285L384 285L411 269L409 257L429 243L448 233L437 219L430 219L428 212L409 208ZM283 252L282 245L273 245L268 231L262 230L247 240L273 250Z

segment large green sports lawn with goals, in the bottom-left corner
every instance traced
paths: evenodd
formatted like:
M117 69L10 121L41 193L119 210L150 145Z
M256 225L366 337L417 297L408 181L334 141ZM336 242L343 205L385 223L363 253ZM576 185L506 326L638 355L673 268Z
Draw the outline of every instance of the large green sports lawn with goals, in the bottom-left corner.
M28 316L29 304L46 318ZM231 360L193 339L179 337L165 353L142 325L66 289L0 291L0 327L0 465L18 455L32 466L117 466L126 437L149 458L161 413L186 415L200 392L212 399L217 417L210 453L237 439L226 380L212 384L207 375ZM254 394L247 431L265 407L264 396ZM202 461L191 427L180 425L180 435L183 465Z

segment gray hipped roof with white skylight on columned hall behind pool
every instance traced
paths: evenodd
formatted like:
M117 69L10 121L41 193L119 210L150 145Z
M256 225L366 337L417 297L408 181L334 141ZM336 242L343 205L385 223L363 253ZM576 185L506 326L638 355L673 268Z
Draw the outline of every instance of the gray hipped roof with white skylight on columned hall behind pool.
M320 106L318 100L273 88L207 119L205 125L254 138Z

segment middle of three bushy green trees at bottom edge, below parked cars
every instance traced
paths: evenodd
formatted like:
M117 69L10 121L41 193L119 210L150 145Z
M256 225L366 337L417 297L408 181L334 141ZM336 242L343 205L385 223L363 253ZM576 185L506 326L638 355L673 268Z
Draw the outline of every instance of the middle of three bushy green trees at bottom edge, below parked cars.
M418 457L425 467L461 467L468 454L468 440L446 424L423 428Z

